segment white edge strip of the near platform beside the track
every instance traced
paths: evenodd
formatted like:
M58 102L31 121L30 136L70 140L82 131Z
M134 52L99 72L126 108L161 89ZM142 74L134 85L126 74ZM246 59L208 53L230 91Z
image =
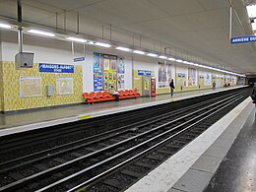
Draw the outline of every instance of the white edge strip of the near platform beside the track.
M228 125L251 103L251 98L232 109L197 139L151 171L125 192L166 192L224 132Z

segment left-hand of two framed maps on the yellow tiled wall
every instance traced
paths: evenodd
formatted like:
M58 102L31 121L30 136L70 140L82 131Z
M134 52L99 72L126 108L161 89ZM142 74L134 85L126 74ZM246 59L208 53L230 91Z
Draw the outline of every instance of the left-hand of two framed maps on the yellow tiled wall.
M20 96L42 96L40 77L20 77Z

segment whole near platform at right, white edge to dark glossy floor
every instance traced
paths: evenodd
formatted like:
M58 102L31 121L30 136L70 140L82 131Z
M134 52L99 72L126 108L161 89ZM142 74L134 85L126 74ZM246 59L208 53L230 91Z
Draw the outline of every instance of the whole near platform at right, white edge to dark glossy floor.
M255 192L254 119L248 97L125 192Z

